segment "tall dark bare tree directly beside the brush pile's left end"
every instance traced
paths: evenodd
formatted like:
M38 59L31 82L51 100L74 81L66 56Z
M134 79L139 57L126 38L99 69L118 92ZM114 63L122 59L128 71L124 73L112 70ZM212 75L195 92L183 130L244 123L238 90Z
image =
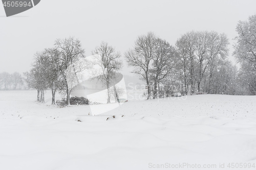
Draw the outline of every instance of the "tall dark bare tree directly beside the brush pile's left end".
M70 93L72 86L77 82L77 74L86 69L80 64L80 59L85 58L81 42L74 38L57 39L55 47L58 51L57 64L62 78L62 89L67 94L67 105L70 105ZM75 64L80 66L76 67Z

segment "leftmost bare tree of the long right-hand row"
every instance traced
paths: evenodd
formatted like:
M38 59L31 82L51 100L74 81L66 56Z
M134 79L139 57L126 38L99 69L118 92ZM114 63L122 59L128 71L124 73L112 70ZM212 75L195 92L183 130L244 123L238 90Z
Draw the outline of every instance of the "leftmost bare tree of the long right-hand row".
M127 64L132 66L133 73L139 75L147 86L147 100L151 98L150 71L155 55L156 36L150 32L135 41L134 48L125 53Z

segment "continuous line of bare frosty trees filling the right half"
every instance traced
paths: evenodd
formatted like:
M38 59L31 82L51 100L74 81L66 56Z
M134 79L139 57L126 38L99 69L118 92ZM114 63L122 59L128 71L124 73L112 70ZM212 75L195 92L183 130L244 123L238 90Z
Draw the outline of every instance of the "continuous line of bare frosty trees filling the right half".
M240 21L233 56L241 68L228 60L228 38L215 31L191 31L174 46L148 33L137 38L125 53L133 73L147 86L147 99L181 92L256 94L256 15Z

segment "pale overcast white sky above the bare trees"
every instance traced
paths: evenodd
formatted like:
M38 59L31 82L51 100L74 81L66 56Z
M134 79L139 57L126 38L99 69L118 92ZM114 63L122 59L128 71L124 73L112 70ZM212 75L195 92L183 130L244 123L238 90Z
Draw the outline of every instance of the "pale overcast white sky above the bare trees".
M81 40L86 56L101 41L123 54L149 31L172 45L192 30L226 33L231 40L238 21L256 14L255 7L255 0L41 0L6 17L0 4L0 72L28 71L37 51L70 36Z

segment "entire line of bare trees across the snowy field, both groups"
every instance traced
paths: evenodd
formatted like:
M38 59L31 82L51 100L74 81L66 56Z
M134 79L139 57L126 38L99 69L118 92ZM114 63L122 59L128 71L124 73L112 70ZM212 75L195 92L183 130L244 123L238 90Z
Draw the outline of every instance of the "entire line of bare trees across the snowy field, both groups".
M174 92L255 95L256 94L256 15L240 21L233 56L241 68L228 60L229 40L215 31L191 31L170 45L154 33L139 36L133 47L124 53L125 61L146 85L147 99L170 96ZM99 79L111 94L118 96L116 87L110 86L122 68L121 54L106 42L92 51L95 62L84 56L78 39L57 39L52 48L35 54L33 68L26 72L26 82L37 89L37 101L44 102L44 90L51 89L52 104L59 90L67 95L79 84L80 72L97 64L101 68ZM7 85L8 86L8 85ZM7 87L5 86L5 87ZM118 97L117 97L118 98ZM116 98L116 100L117 100Z

